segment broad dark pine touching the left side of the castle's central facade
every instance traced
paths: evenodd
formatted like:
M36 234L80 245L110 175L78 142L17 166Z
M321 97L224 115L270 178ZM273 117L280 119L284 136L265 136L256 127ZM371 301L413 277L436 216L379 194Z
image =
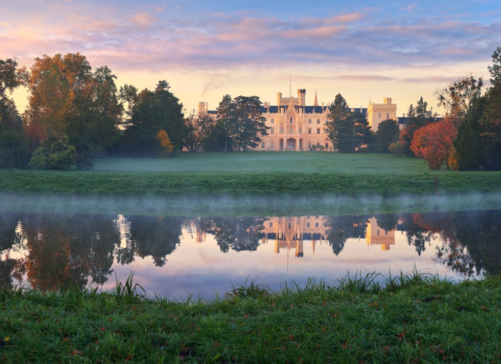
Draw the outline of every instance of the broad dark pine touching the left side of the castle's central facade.
M258 96L237 96L233 100L231 112L234 124L232 139L238 150L255 148L261 142L261 136L268 135L266 117L261 115L261 100Z

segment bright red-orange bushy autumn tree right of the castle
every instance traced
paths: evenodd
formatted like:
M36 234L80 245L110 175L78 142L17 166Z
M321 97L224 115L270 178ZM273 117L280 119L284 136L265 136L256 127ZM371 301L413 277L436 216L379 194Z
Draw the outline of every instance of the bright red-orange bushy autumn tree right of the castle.
M430 169L440 169L447 161L456 129L451 119L444 119L421 126L414 132L411 150L423 157Z

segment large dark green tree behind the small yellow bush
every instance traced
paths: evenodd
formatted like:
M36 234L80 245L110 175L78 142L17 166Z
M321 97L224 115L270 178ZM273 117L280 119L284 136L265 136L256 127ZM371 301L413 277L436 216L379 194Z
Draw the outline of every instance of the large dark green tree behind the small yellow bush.
M157 139L159 130L165 130L173 152L180 150L186 135L182 103L169 91L167 82L159 81L155 91L143 89L129 104L126 129L121 140L121 149L136 156L157 156L162 146Z

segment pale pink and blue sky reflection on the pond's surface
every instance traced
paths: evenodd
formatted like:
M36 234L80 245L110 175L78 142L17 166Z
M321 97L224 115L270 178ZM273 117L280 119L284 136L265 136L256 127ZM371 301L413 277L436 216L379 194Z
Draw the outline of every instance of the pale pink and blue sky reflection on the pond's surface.
M186 296L186 293L196 295L200 292L204 297L211 297L215 291L222 295L231 289L231 282L243 283L247 276L249 279L257 277L258 282L272 288L280 288L280 284L290 280L304 285L313 276L336 283L347 271L351 274L357 271L387 274L391 269L392 274L398 274L400 270L412 271L414 265L418 270L456 277L455 272L432 260L435 246L441 243L439 236L426 246L421 256L413 245L408 245L405 233L400 231L395 231L395 244L389 251L383 251L381 245L368 245L365 238L349 238L336 256L328 242L317 241L315 258L310 240L304 241L301 258L294 256L294 246L289 253L287 249L275 253L274 240L260 244L256 251L230 249L228 253L221 253L213 235L206 234L205 241L199 243L194 234L183 228L180 241L163 267L154 266L151 257L136 257L129 265L115 263L113 269L121 277L134 270L134 281L150 293ZM110 280L104 287L111 289L114 282Z

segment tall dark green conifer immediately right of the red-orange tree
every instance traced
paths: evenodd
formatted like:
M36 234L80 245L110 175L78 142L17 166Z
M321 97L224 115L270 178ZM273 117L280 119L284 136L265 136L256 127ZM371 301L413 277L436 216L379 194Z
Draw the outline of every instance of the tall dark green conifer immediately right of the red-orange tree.
M475 98L465 117L457 126L457 135L453 145L460 170L475 170L484 164L485 140L479 122L484 108L485 97Z

